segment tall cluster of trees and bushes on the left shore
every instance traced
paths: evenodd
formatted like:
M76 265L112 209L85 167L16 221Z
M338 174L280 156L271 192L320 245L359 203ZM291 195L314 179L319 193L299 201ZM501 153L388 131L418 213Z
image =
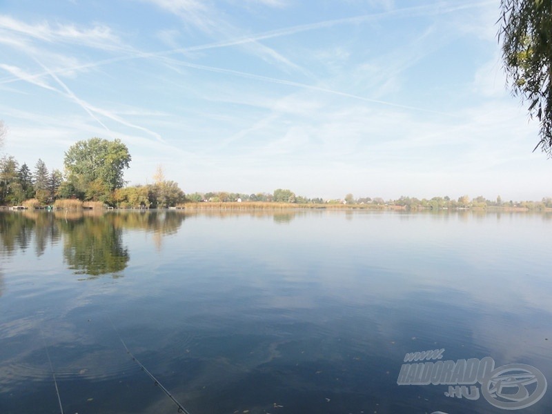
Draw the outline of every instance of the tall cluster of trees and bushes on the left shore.
M161 168L154 183L125 187L124 170L130 153L119 139L91 138L70 146L64 171L48 170L39 159L31 170L11 155L0 159L0 205L55 204L58 199L100 201L108 206L163 208L185 201L175 181L166 180Z

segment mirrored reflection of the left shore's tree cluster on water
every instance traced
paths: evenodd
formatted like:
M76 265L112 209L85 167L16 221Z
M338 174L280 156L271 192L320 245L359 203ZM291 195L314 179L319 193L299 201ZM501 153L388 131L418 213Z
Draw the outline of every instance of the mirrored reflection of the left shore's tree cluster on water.
M185 217L183 212L155 210L2 212L0 254L10 257L18 250L25 252L33 246L39 257L48 244L55 245L63 240L63 261L70 270L75 270L75 274L90 278L106 274L119 277L130 259L128 248L124 246L125 230L153 233L159 250L163 237L175 234Z

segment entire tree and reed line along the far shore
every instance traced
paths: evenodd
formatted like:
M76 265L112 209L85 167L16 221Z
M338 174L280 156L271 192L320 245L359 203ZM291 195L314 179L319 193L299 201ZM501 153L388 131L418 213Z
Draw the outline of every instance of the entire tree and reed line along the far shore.
M5 131L3 124L1 128ZM309 198L293 191L277 188L273 193L229 193L225 191L192 193L185 195L175 181L165 179L161 167L153 176L153 184L125 186L124 170L129 168L130 153L119 139L108 141L90 138L70 146L63 159L64 171L48 170L38 159L34 168L19 162L10 155L0 159L0 205L29 206L52 205L59 199L99 201L101 204L119 208L166 208L185 202L264 202L286 204L344 204L381 208L399 206L408 210L446 208L522 207L531 210L552 208L552 199L542 201L502 201L500 195L490 200L483 196L471 199L463 195L417 199L400 197L384 200L381 197L355 198L351 193L342 199Z

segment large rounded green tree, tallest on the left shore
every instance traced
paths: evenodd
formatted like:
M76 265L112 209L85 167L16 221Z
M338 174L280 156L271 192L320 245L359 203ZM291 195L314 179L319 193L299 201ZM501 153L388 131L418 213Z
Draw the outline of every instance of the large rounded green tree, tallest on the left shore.
M90 138L70 146L63 164L68 181L86 199L106 201L108 193L124 186L124 169L130 159L128 148L119 139Z

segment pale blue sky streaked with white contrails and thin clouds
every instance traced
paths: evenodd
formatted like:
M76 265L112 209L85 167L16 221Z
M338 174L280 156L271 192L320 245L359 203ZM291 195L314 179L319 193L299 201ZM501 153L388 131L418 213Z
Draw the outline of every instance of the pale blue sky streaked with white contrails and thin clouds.
M121 139L186 193L552 195L500 1L0 0L4 153Z

